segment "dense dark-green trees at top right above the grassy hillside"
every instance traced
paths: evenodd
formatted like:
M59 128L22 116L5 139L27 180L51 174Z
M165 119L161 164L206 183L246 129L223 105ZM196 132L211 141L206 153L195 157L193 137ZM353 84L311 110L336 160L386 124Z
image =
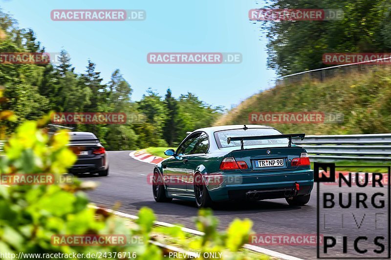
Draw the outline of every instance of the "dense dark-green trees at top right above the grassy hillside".
M260 22L279 75L327 67L324 53L390 53L390 0L269 0L268 8L340 9L342 20Z

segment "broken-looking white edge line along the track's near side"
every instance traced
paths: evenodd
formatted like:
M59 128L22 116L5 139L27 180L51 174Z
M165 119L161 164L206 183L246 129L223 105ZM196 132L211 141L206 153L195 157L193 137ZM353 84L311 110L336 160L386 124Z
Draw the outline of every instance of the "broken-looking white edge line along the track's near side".
M94 206L94 205L90 205L90 207L91 208L95 208L95 209L101 208L101 207L97 207L97 206ZM128 213L124 213L124 212L120 212L120 211L116 211L116 210L111 210L111 209L108 209L108 208L105 208L105 209L107 211L109 211L110 213L112 213L114 215L117 215L117 216L120 216L120 217L132 219L132 220L138 219L138 217L135 216L135 215L130 215ZM154 224L158 225L158 226L165 226L165 227L174 227L174 226L176 226L174 224L161 222L161 221L155 221ZM201 231L194 230L194 229L191 229L191 228L181 227L181 229L182 229L183 232L190 233L190 234L197 235L197 236L202 236L204 234ZM268 255L268 256L271 256L271 257L276 257L276 258L279 258L279 259L282 259L282 260L303 260L301 258L285 255L285 254L282 254L282 253L279 253L279 252L276 252L276 251L273 251L273 250L270 250L270 249L266 249L266 248L263 248L263 247L260 247L260 246L257 246L257 245L244 244L243 247L248 249L248 250L255 251L257 253L262 253L262 254L265 254L265 255Z

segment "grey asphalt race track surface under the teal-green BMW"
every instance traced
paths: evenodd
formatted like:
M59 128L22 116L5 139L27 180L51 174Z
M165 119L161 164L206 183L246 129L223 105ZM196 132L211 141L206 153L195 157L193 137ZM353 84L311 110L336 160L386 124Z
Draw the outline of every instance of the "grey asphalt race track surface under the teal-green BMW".
M108 177L83 176L81 180L94 180L99 182L97 189L89 191L90 200L97 205L112 208L116 202L121 203L119 211L137 215L137 211L144 206L153 209L159 221L178 223L185 227L196 229L193 217L197 215L195 202L173 200L171 203L156 203L152 196L152 187L147 181L147 175L152 173L153 165L134 160L129 156L130 151L109 152L110 172ZM337 187L329 185L329 190L337 190ZM352 187L350 189L358 189ZM377 188L379 189L379 188ZM387 189L383 192L387 195ZM377 190L378 191L378 190ZM316 235L316 187L311 195L311 200L303 207L289 207L284 199L249 201L249 202L226 202L214 208L214 215L220 221L219 228L225 229L235 218L249 218L253 221L253 230L257 234L308 234ZM369 197L370 198L370 197ZM338 199L337 199L338 201ZM353 200L353 204L355 204ZM387 202L387 200L386 200ZM369 199L370 203L370 199ZM386 203L387 205L387 203ZM356 223L360 225L362 234L368 234L374 230L375 215L367 214L363 220L360 209L351 210L356 213ZM349 212L349 214L350 214ZM387 218L387 217L386 217ZM383 221L384 220L384 221ZM377 225L387 222L387 219L378 218ZM357 234L356 224L346 217L345 226L352 224L351 235ZM334 217L326 220L328 226L341 225L341 216L335 214ZM344 230L346 234L346 228ZM332 233L333 235L335 234ZM349 234L350 235L350 234ZM387 238L385 241L386 250L388 248ZM315 245L260 245L267 249L298 257L301 259L316 259ZM351 241L348 242L349 250L353 248ZM372 240L360 242L360 247L372 251L378 248ZM356 255L357 256L357 255ZM345 257L340 255L340 257Z

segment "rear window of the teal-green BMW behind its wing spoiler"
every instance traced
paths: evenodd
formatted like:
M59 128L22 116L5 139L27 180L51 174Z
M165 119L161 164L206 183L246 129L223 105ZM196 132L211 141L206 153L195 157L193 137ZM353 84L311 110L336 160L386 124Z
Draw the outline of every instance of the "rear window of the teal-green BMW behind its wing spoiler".
M281 135L279 131L271 128L251 128L247 130L233 129L215 132L218 148L226 147L240 147L240 141L231 141L229 144L227 139L229 137L247 137L247 136L270 136L270 135ZM265 139L265 140L244 140L244 146L250 145L263 145L263 144L277 144L277 145L288 145L289 140L283 139Z

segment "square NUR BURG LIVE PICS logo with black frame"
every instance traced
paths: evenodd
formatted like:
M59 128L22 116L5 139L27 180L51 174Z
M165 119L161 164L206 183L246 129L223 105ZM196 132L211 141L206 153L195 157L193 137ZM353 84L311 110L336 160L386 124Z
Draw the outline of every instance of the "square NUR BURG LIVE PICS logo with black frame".
M347 172L349 168L362 172ZM314 163L317 258L390 259L390 172L391 166L384 164Z

